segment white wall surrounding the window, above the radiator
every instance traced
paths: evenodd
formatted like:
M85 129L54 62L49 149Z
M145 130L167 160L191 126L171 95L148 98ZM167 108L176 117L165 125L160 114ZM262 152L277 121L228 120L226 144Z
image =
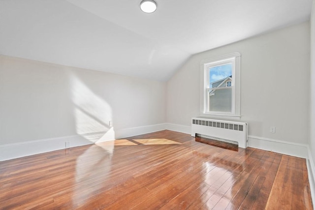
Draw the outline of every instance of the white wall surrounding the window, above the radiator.
M167 122L190 126L200 112L200 61L233 52L242 55L241 121L249 135L308 144L309 22L192 56L167 82Z

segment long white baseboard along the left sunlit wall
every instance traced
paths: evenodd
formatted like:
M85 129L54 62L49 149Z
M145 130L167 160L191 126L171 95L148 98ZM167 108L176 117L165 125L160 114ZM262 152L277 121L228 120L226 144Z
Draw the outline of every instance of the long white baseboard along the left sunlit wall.
M125 138L128 136L152 133L165 129L165 124L162 123L118 130L114 130L113 128L111 128L106 132L95 132L75 136L64 136L58 138L40 139L35 141L0 145L0 161L25 157L48 151L90 145L99 142L110 141L113 139Z

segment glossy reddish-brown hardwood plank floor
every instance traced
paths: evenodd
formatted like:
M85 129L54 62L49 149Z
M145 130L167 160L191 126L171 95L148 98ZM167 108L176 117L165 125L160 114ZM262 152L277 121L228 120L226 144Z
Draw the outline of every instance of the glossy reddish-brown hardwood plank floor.
M159 131L0 162L1 209L312 210L306 161Z

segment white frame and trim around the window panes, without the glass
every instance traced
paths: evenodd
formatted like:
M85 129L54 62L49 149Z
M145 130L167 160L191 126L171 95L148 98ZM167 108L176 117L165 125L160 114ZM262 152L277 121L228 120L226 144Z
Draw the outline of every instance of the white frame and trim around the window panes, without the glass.
M209 107L209 68L232 63L232 110L231 112L210 112ZM202 60L200 63L200 116L220 119L241 119L241 54L238 52Z

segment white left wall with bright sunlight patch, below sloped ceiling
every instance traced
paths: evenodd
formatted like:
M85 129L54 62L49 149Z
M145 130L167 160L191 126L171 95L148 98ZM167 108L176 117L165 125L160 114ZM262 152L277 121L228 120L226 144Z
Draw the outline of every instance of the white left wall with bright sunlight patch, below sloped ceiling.
M1 56L0 145L106 133L109 120L118 137L164 123L165 90L164 82Z

